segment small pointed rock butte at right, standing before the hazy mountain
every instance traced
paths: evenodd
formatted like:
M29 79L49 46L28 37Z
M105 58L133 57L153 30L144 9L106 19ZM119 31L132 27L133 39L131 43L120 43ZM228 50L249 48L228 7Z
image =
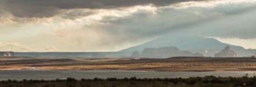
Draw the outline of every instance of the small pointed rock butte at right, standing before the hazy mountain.
M226 46L225 49L214 55L215 57L238 57L237 53Z

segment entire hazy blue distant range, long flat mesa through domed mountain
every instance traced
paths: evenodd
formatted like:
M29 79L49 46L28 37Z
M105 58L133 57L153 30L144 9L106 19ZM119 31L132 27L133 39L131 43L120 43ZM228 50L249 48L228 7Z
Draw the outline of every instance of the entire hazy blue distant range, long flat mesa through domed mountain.
M225 50L225 47L228 50ZM224 49L224 50L222 50ZM124 57L214 57L217 55L235 55L237 57L251 57L256 49L244 49L222 43L214 38L200 36L162 36L138 46L113 52L15 52L15 57L82 57L82 58L124 58ZM4 57L5 52L0 52ZM230 56L228 56L230 57Z

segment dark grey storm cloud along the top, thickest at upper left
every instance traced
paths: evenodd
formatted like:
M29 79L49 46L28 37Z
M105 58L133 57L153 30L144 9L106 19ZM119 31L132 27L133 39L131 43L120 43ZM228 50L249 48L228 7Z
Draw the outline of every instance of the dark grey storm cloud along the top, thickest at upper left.
M59 9L110 9L135 5L165 6L182 1L205 0L0 0L1 6L16 17L51 17Z

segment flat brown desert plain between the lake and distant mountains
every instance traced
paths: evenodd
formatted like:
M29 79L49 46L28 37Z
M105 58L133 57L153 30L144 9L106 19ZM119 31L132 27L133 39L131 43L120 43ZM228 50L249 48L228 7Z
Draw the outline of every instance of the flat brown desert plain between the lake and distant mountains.
M256 58L0 58L0 70L155 70L172 72L252 71L256 70Z

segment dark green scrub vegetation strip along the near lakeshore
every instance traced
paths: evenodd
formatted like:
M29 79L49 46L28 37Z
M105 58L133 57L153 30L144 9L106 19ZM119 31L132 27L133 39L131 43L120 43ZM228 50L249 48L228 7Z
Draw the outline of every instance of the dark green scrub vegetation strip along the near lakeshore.
M1 87L255 87L256 77L241 78L94 78L64 80L2 80Z

